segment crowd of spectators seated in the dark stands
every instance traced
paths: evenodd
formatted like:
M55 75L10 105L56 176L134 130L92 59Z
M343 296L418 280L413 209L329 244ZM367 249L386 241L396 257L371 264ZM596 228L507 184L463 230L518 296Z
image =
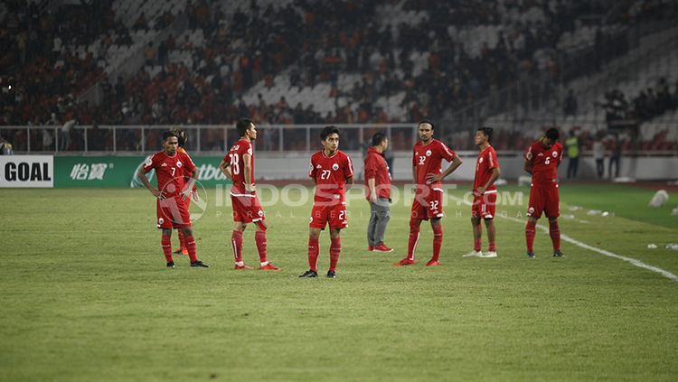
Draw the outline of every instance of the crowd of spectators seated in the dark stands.
M579 15L602 14L600 6L584 0L482 4L462 0L455 6L428 0L295 0L277 6L251 1L233 11L225 2L194 0L180 13L188 20L186 32L170 34L157 46L148 42L144 67L130 79L110 83L102 70L107 57L83 47L98 39L101 51L111 44L131 44L132 33L164 29L172 23L173 14L159 14L153 23L146 14L137 14L127 27L116 17L112 0L64 5L53 13L41 12L35 3L26 8L24 2L14 0L8 2L0 27L0 46L14 52L3 62L10 75L2 78L0 123L231 125L239 116L248 115L259 124L323 124L442 116L446 110L487 96L492 89L538 73L559 81L558 57L567 49L561 43L563 36L575 31ZM675 9L668 12L667 6L670 3L636 2L608 23L669 17ZM396 9L406 17L395 17L398 23L390 23L380 18L384 9ZM479 26L493 27L495 41L469 46L462 37ZM597 44L604 44L604 26L596 34ZM345 73L357 75L348 89L339 86ZM256 84L272 88L281 76L299 89L329 83L326 98L349 101L335 102L334 111L325 114L313 105L292 105L284 97L274 103L260 96L255 102L245 101ZM99 105L80 100L94 83L102 94ZM399 107L406 110L405 115L390 115L390 110L378 106L378 99L399 93L403 94ZM645 108L636 111L642 116L649 112ZM65 133L77 144L81 137L73 136L77 135L74 131L68 127ZM42 136L34 147L48 149L53 139L49 130L42 134L48 136ZM101 135L109 146L112 138L106 131ZM138 148L138 134L130 133L127 138L118 142L120 149ZM14 141L22 139L14 136ZM204 136L202 142L217 145L221 140L219 135ZM71 139L64 148L70 144Z

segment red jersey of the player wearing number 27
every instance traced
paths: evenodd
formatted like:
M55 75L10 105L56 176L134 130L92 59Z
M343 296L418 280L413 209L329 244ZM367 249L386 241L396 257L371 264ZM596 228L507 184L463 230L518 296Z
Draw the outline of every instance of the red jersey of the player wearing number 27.
M337 150L326 156L321 150L311 156L308 176L315 179L315 201L345 201L346 178L353 176L353 163Z

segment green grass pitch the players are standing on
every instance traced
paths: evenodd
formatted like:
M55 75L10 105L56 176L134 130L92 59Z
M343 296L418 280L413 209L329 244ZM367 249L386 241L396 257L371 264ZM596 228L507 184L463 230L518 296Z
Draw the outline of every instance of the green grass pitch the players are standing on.
M647 210L654 191L560 190L562 214L572 215L560 219L564 234L678 275L678 251L664 249L678 242L670 216L678 194ZM338 278L329 280L297 278L307 269L310 204L266 208L269 257L283 271L265 273L232 270L231 209L213 201L194 224L198 255L212 267L175 258L177 268L165 269L147 191L0 196L2 381L678 378L678 283L566 242L566 257L554 259L541 231L528 259L524 225L509 219L496 221L498 258L462 258L472 244L469 208L454 200L437 268L423 266L426 226L419 264L391 266L407 249L402 200L387 231L395 252L367 252L369 209L353 200ZM523 219L526 202L498 212ZM324 233L321 272L328 247ZM256 265L250 229L244 251Z

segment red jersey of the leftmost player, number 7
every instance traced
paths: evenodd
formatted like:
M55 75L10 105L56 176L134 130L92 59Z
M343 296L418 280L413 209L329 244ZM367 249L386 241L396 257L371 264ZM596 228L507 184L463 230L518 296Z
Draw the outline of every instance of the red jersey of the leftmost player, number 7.
M164 191L165 198L178 196L184 190L184 172L195 171L195 164L188 154L177 152L170 156L164 151L153 154L144 163L144 172L155 169L157 188Z

